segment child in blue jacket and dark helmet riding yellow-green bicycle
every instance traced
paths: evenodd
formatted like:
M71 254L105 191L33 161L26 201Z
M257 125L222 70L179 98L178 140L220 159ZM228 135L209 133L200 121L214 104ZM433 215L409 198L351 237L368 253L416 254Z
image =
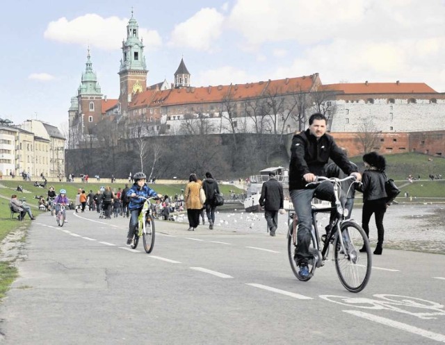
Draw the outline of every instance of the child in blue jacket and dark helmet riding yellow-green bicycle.
M133 175L134 183L127 192L127 196L130 198L129 210L130 210L130 225L127 235L127 245L130 245L133 241L134 230L138 225L138 217L140 211L143 208L145 203L145 199L139 198L138 196L143 196L144 198L149 198L151 196L157 196L161 198L161 194L157 194L150 187L147 186L145 181L147 180L147 176L143 172L138 172Z

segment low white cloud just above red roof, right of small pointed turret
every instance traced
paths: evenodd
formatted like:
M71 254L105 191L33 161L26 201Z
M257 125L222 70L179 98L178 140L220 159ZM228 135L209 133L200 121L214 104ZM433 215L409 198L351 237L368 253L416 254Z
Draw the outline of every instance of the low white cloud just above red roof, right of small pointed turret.
M246 74L243 69L237 69L232 66L223 66L218 69L202 70L197 74L193 80L193 85L207 86L207 85L229 85L242 84L252 79Z

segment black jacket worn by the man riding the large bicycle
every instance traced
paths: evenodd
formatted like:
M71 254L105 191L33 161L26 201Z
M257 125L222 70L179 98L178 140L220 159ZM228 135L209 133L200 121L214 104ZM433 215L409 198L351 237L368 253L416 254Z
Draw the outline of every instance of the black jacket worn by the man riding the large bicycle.
M306 182L303 176L305 174L326 176L325 165L329 158L347 175L357 171L357 168L350 164L346 154L335 144L331 135L324 134L316 140L309 129L294 135L289 165L289 190L304 189Z

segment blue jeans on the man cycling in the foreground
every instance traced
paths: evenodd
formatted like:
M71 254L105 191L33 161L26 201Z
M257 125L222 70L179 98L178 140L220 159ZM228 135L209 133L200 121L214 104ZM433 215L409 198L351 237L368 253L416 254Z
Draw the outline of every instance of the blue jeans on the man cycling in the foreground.
M298 217L297 246L295 256L298 264L312 258L309 244L312 239L312 207L311 201L315 196L321 200L334 201L334 187L330 182L323 182L313 190L291 190L293 207Z

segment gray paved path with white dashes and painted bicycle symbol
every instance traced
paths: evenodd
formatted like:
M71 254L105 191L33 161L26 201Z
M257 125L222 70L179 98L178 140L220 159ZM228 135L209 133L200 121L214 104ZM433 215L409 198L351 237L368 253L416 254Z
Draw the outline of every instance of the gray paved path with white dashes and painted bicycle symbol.
M128 219L68 219L32 223L0 306L4 344L445 342L445 255L384 249L351 294L332 262L296 280L282 234L157 221L147 255L124 245Z

